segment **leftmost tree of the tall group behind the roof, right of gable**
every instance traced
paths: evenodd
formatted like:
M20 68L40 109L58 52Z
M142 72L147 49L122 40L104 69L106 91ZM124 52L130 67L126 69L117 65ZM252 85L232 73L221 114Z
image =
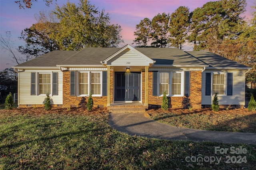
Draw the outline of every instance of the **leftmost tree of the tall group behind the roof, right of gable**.
M138 47L147 47L147 43L150 41L150 33L151 33L151 21L148 18L144 18L140 20L140 23L136 25L136 31L134 32L134 36L136 36L135 40L133 40L133 44L135 43Z

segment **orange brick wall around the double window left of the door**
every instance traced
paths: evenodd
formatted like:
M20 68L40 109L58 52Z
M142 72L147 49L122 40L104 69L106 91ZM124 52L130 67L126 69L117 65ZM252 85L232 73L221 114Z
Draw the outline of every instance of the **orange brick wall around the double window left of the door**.
M86 106L89 97L70 96L70 71L63 72L63 107ZM107 105L107 96L92 97L94 107Z

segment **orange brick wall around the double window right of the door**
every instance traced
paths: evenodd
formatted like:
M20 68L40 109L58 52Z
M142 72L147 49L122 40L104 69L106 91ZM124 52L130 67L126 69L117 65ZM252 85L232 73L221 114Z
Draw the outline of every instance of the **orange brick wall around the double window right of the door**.
M142 78L142 81L143 81L143 78ZM168 97L169 107L187 108L188 106L191 105L194 109L201 108L201 94L202 94L201 88L202 88L201 71L190 71L190 96L189 97L185 97L185 96ZM157 105L160 107L162 105L162 97L152 96L152 94L153 94L153 72L148 72L148 104L149 106Z

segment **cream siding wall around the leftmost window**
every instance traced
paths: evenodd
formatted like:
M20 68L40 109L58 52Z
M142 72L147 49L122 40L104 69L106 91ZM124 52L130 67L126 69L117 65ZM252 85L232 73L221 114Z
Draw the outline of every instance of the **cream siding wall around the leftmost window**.
M58 72L58 95L50 96L54 104L62 104L63 94L63 74L60 70L25 70L19 72L19 89L18 89L18 104L43 104L45 95L30 95L31 86L31 72L52 74L52 72ZM39 82L39 80L37 79ZM37 82L37 83L38 83Z

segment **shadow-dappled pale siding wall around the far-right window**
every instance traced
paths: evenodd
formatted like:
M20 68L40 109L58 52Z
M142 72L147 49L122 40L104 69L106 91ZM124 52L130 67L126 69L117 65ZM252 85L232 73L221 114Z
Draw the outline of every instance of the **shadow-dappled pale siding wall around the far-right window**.
M205 84L206 84L206 72L216 72L216 70L205 70L202 72L202 105L212 104L214 94L211 96L205 95ZM233 73L233 94L232 96L218 95L218 101L220 105L244 105L244 94L245 94L245 70L220 70L220 72L232 72ZM225 78L225 84L227 83L227 78ZM213 83L213 82L212 82ZM226 87L225 87L226 88ZM226 93L226 92L225 92Z

